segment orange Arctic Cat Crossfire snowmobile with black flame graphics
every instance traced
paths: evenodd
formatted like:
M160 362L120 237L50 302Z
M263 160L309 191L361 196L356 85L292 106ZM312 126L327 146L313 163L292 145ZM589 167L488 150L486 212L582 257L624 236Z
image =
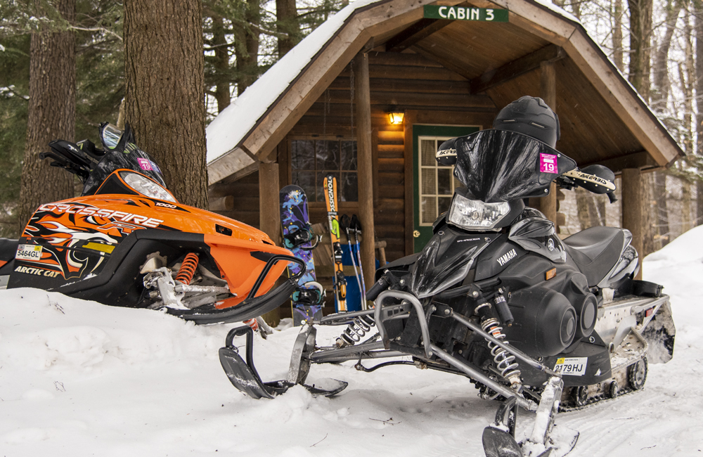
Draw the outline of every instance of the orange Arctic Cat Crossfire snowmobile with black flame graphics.
M77 174L79 198L41 205L19 240L0 238L0 288L32 287L195 323L246 321L289 300L302 261L266 233L181 205L129 126L52 141L42 159ZM288 262L302 270L273 288Z

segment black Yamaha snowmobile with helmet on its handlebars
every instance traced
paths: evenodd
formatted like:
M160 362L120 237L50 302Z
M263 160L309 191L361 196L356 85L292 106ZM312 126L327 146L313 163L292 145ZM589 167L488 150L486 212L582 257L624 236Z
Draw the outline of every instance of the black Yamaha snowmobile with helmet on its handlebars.
M638 254L629 231L593 227L560 240L551 221L525 207L525 198L547 195L552 181L614 201L614 174L598 165L579 171L554 149L558 131L541 99L523 97L501 111L494 129L443 143L437 160L454 165L465 187L422 252L376 272L366 294L374 309L304 326L288 379L277 382L259 378L250 342L246 362L233 347L233 337L250 330L232 330L220 360L233 385L270 398L304 382L311 363L431 368L464 375L479 397L501 401L484 430L486 456L571 451L578 432L550 439L557 412L640 390L647 363L671 359L675 328L662 286L633 279ZM346 328L335 346L318 347L318 325ZM363 365L381 358L395 360ZM322 393L344 385L327 387ZM520 444L518 406L535 413Z

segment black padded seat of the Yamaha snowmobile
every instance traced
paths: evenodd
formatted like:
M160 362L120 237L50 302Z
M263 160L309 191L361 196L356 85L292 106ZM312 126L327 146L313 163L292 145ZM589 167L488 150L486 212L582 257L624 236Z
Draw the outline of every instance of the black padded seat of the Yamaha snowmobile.
M625 233L616 227L591 227L562 240L567 255L586 275L588 285L598 285L620 258Z

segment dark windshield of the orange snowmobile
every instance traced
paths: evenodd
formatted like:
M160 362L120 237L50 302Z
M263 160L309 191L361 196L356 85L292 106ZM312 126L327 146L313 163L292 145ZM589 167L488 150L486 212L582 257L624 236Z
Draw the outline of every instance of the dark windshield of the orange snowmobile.
M105 156L88 176L88 180L83 186L82 195L93 195L96 193L103 181L108 179L108 176L118 169L128 169L143 174L166 188L161 169L155 160L146 152L137 148L134 143L127 143L124 150L108 150L105 153Z

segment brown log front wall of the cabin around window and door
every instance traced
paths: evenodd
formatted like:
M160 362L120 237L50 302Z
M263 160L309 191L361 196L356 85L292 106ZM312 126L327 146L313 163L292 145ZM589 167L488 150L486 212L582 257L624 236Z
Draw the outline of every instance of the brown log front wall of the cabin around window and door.
M412 202L407 201L406 191L412 182L406 182L406 157L412 167L412 144L406 144L408 126L390 124L387 112L415 112L413 118L423 124L467 125L470 121L485 127L496 107L488 96L471 94L467 79L418 54L370 51L368 56L375 237L387 243L385 253L390 262L410 253L406 226L412 226L413 221L406 206L412 207ZM357 126L352 114L352 87L357 76L354 65L347 65L278 145L281 187L292 180L288 152L292 139L354 138ZM210 198L233 195L233 208L219 212L258 227L258 182L257 172L235 182L221 182L211 187ZM326 222L324 202L311 202L309 207L312 224ZM358 211L358 202L340 202L341 214Z

